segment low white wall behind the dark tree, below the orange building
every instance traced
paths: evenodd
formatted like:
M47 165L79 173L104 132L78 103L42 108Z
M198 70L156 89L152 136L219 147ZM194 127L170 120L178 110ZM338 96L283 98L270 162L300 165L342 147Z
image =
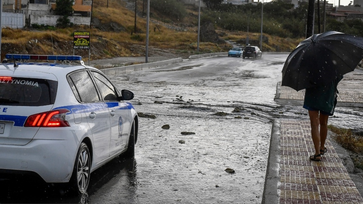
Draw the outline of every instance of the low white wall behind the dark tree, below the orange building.
M30 15L30 25L31 24L44 24L44 25L53 25L57 24L58 18L61 16L51 16L51 15ZM68 17L70 22L77 25L89 25L91 22L91 17L81 17L81 16L70 16Z

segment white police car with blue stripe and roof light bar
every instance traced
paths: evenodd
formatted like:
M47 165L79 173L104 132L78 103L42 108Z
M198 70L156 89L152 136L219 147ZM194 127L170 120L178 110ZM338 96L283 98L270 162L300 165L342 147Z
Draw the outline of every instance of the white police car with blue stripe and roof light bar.
M38 174L85 193L91 172L122 153L134 156L138 115L126 102L132 91L120 93L80 56L6 58L0 64L0 178Z

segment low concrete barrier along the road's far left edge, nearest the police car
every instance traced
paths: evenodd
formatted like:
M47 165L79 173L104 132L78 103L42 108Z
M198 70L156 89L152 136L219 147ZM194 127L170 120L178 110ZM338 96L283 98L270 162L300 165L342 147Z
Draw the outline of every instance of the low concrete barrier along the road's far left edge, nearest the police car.
M164 61L160 61L160 62L150 62L150 63L144 63L144 64L138 64L138 65L101 69L100 71L106 75L123 74L123 73L127 73L127 72L134 72L134 71L149 69L149 68L153 68L153 67L157 67L157 66L175 64L175 63L179 63L182 61L183 61L183 58L176 58L176 59L164 60Z

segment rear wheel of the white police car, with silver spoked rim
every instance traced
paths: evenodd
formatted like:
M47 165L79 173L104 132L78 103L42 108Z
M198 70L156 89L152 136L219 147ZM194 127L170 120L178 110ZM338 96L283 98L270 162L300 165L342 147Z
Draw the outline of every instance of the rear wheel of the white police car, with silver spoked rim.
M79 146L76 161L74 162L72 177L69 181L73 193L86 193L90 181L90 170L90 152L87 144L82 142Z

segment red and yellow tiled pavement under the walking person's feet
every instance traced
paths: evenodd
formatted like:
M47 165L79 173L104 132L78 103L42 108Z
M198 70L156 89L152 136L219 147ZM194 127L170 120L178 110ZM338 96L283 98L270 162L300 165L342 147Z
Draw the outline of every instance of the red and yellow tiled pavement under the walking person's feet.
M362 204L363 199L330 143L320 162L310 161L314 150L309 121L280 121L279 204ZM268 202L267 202L268 203Z

